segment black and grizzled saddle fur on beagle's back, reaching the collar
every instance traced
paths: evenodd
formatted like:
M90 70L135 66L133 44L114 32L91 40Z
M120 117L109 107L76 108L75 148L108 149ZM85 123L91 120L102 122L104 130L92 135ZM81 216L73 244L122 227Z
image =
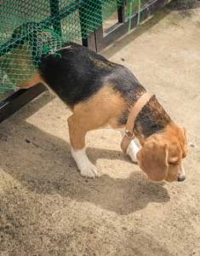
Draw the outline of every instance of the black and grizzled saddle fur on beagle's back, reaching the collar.
M43 56L39 73L70 106L87 100L106 85L117 90L128 105L146 91L127 67L74 43L67 43L54 54Z

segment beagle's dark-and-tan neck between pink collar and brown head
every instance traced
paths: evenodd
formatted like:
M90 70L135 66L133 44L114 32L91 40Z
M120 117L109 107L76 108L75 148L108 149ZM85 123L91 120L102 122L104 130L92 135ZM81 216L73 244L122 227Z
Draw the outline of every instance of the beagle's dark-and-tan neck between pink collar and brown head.
M142 142L153 133L163 131L164 127L170 122L171 119L168 113L166 113L161 104L157 102L157 98L152 96L135 120L135 136Z

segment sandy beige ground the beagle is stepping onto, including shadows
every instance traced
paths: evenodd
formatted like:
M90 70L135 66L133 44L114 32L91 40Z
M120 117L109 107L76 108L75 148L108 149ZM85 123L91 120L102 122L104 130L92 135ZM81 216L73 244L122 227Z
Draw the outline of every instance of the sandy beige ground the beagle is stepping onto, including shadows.
M165 9L103 55L129 67L187 128L184 183L150 183L118 131L93 131L87 179L70 111L49 92L0 125L0 255L200 255L200 8Z

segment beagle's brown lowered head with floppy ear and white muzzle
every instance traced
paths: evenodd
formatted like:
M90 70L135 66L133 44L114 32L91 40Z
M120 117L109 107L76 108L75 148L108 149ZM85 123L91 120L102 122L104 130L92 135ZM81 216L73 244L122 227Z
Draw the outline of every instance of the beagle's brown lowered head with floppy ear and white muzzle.
M148 137L137 154L140 168L153 181L185 179L182 159L186 157L186 130L174 123Z

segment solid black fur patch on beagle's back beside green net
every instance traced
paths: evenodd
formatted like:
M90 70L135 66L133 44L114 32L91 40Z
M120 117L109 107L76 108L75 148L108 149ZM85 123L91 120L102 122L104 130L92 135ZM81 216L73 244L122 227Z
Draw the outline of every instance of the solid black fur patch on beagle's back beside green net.
M39 73L62 101L73 106L100 90L105 85L105 78L115 73L116 67L117 64L103 56L68 43L41 59Z

